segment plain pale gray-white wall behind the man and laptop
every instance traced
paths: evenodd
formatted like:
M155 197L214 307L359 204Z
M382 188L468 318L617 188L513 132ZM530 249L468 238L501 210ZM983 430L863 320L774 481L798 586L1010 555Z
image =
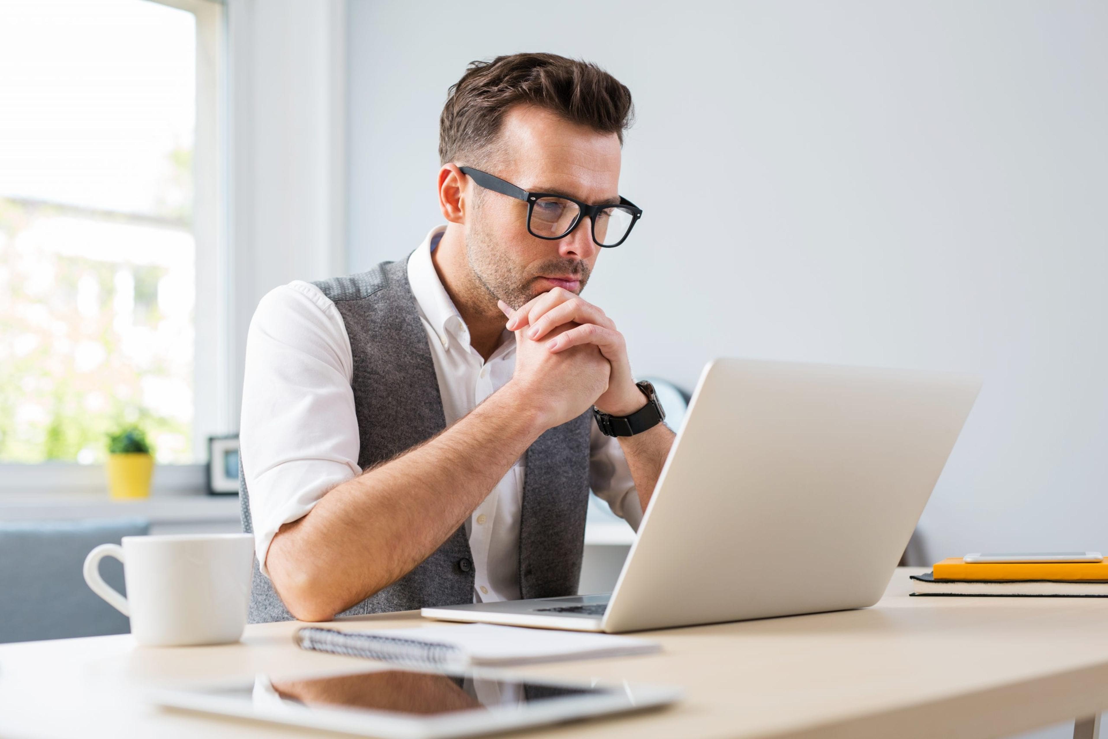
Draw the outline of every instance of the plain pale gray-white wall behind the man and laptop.
M465 63L579 55L635 95L645 209L585 297L639 374L720 355L971 370L930 557L1108 551L1108 4L351 0L349 265L439 223Z

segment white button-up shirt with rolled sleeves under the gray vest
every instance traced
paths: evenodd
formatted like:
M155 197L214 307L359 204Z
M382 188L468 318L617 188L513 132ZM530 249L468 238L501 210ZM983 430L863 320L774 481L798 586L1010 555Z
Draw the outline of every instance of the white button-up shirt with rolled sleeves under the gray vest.
M449 427L512 378L515 339L505 330L489 361L470 346L465 321L431 261L444 228L434 228L411 255L408 279ZM361 473L352 371L342 316L319 288L297 280L261 299L246 341L239 435L255 551L267 576L266 553L277 530L307 514L331 487ZM524 460L516 461L465 522L478 602L520 597ZM638 527L643 510L623 451L595 423L589 485L616 515Z

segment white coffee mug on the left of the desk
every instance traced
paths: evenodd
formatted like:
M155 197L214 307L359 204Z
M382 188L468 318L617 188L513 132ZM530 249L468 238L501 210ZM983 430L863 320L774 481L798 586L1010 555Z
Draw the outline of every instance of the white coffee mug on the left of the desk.
M126 597L100 576L105 556L123 563ZM138 644L225 644L246 627L253 557L250 534L124 536L123 546L101 544L89 553L84 582L130 616Z

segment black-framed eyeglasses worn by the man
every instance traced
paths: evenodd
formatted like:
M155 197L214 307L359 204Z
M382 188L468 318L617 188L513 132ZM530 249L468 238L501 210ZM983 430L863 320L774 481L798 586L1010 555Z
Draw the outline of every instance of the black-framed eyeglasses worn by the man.
M557 240L565 238L585 216L593 224L593 240L612 248L627 239L643 212L625 197L618 205L589 205L555 193L529 193L512 183L473 167L458 167L485 189L514 197L527 204L527 232L532 236Z

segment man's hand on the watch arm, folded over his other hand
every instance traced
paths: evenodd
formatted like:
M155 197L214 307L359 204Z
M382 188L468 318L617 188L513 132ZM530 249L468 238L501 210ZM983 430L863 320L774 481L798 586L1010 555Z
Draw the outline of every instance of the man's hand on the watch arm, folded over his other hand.
M515 333L520 352L517 374L521 363L529 362L529 358L522 356L525 341L536 342L535 347L548 355L592 345L611 370L606 388L596 389L598 394L594 396L591 404L612 415L629 415L646 404L647 398L632 376L624 337L603 310L561 287L532 298L515 310L503 300L499 300L497 305L507 317L506 328Z

